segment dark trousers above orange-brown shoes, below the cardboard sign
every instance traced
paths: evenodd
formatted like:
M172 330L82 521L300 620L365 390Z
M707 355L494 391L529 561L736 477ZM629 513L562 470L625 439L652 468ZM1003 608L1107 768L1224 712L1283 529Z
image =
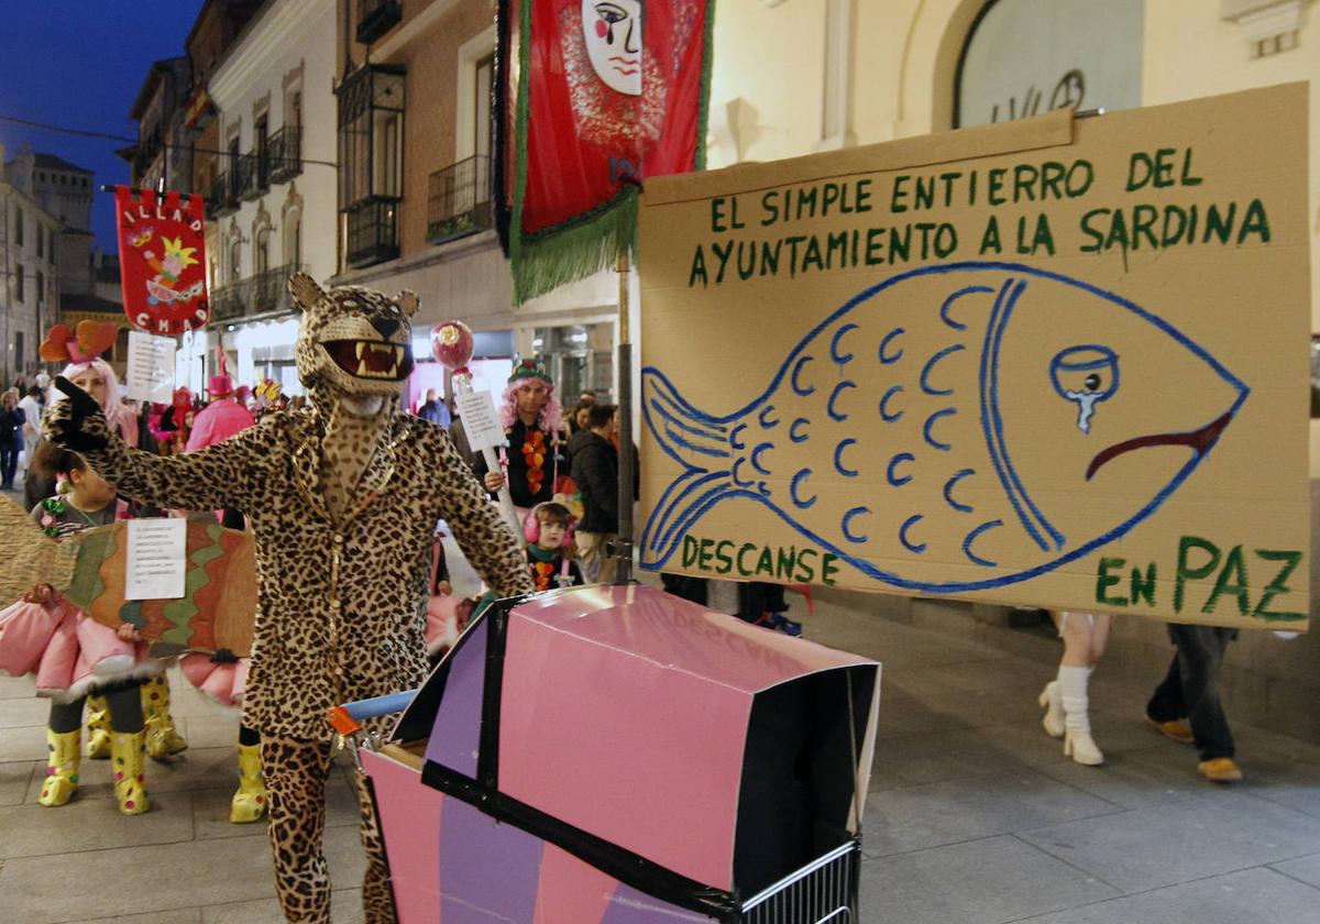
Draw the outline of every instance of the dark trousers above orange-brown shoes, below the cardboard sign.
M1156 722L1187 718L1201 760L1232 758L1236 748L1220 704L1220 665L1237 630L1171 623L1168 634L1177 653L1146 705L1146 713Z

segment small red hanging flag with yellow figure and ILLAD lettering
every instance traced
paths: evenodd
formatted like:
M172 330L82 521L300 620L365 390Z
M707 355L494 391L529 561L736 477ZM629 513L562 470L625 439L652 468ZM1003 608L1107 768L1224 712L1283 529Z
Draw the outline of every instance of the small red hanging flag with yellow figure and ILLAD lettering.
M124 314L152 334L182 334L211 315L201 195L115 187Z

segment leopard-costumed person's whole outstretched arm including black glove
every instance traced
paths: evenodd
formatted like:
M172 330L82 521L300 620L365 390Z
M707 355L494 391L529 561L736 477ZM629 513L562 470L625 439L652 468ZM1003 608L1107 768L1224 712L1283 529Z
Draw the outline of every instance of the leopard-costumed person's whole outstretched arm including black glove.
M46 438L82 454L120 494L144 504L187 510L242 508L251 499L260 480L252 450L271 438L265 428L251 428L190 455L153 455L120 440L91 395L62 376L55 387L69 400L55 401L46 412Z

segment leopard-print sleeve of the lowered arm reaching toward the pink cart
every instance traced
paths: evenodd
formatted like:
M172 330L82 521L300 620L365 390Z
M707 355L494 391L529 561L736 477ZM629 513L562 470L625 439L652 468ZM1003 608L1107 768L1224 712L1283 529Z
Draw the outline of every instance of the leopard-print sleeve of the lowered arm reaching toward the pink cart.
M535 590L517 536L473 477L454 444L434 428L434 457L438 478L438 516L454 532L463 554L498 597L513 597Z

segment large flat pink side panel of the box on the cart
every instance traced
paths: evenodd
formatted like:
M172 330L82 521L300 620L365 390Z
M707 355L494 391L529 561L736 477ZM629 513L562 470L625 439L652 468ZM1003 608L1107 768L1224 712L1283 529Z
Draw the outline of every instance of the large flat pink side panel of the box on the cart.
M515 609L499 787L676 873L730 888L751 694L655 653L587 643Z

